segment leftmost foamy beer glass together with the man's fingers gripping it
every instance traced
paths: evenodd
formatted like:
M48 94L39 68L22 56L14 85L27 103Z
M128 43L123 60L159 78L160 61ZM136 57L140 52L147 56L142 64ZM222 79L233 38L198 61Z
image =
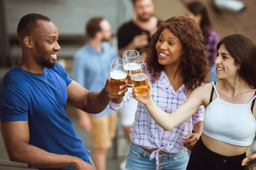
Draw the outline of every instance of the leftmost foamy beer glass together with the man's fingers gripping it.
M124 59L113 59L112 61L110 78L107 80L108 92L111 94L109 97L111 99L124 96L125 92L128 91L126 65L128 66L128 61Z

